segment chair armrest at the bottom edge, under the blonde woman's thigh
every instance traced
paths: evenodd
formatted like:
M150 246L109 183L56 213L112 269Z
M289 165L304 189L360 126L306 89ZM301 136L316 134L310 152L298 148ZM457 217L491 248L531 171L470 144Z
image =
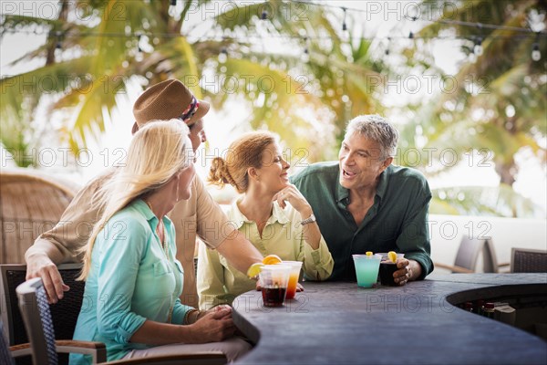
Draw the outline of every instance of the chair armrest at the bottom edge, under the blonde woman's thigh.
M180 354L180 355L164 355L150 356L139 359L126 359L108 362L108 365L223 365L228 360L221 351Z

